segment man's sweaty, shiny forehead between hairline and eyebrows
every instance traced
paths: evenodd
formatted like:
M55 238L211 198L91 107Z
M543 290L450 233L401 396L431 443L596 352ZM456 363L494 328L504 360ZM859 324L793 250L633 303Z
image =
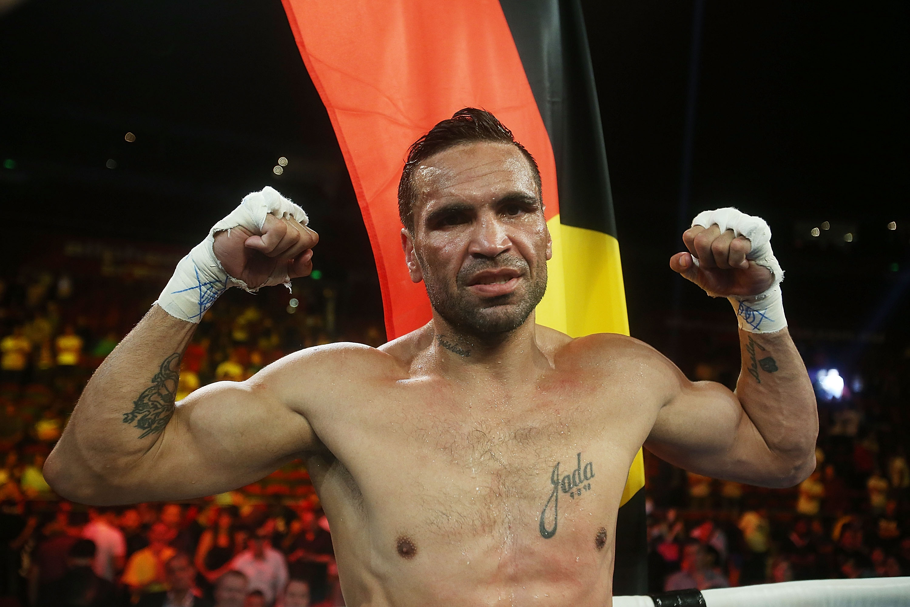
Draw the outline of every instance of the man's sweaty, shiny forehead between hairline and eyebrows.
M418 205L458 197L483 202L499 193L538 195L528 159L509 144L477 142L428 157L414 171Z

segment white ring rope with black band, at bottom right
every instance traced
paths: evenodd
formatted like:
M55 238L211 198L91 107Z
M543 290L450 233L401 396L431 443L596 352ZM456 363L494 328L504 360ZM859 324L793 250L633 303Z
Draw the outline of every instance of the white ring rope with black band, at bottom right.
M910 607L910 577L756 584L702 595L705 607ZM654 602L649 596L614 596L613 607L654 607Z

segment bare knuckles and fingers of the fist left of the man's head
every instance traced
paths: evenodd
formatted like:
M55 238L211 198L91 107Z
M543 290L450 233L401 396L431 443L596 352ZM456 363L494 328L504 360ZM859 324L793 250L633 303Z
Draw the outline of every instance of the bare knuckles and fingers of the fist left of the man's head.
M258 288L308 276L318 242L319 234L293 218L269 214L262 234L239 226L222 230L215 234L212 250L228 275Z

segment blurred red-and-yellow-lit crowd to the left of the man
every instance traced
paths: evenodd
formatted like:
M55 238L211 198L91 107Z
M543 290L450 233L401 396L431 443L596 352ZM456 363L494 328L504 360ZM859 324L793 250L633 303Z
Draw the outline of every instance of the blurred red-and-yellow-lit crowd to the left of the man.
M160 284L22 276L0 277L0 606L343 605L328 521L299 461L185 503L94 509L54 494L42 475L47 454ZM331 286L269 290L228 292L206 315L178 399L303 347L384 341L375 325L339 321Z

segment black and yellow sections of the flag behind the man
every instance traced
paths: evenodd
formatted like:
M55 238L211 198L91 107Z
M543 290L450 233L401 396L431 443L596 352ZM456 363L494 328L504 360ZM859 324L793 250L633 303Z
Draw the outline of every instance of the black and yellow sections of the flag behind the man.
M547 296L537 307L537 322L576 338L629 335L607 153L581 4L501 0L501 6L550 134L560 196L560 215L548 225L561 263L553 263L554 254L547 266ZM613 594L645 594L642 450L632 461L620 504Z

